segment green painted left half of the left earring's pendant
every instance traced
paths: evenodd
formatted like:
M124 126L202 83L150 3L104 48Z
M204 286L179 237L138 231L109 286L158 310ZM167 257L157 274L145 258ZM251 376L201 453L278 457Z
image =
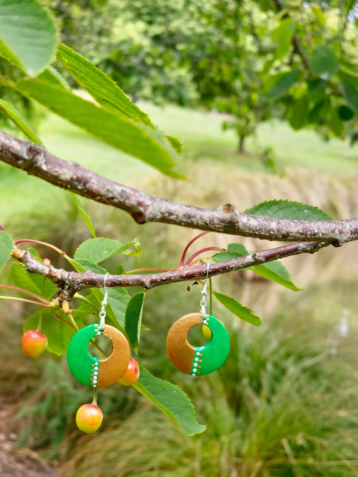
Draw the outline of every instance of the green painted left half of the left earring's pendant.
M90 385L92 364L98 359L88 353L88 342L96 335L95 325L88 325L77 332L67 348L67 364L76 379L86 386Z

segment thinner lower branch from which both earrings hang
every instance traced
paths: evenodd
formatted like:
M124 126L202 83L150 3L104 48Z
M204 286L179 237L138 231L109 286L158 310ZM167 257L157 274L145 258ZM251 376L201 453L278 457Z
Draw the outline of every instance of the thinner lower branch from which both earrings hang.
M301 253L315 253L323 247L327 247L329 242L297 242L275 249L262 250L251 253L245 257L226 260L220 263L212 263L209 266L208 276L221 275L234 270L242 270L254 265L266 263L292 255ZM30 252L20 249L14 249L13 258L19 260L26 265L30 273L43 275L57 285L68 287L66 290L66 300L71 300L75 292L84 288L102 288L104 275L86 271L84 273L68 272L62 269L55 269L53 265L41 263L35 259ZM179 281L200 280L207 275L206 265L194 265L184 267L181 270L171 270L163 273L147 274L147 275L108 275L105 279L107 287L143 287L146 290L167 285L169 283L177 283ZM61 301L61 297L60 297Z

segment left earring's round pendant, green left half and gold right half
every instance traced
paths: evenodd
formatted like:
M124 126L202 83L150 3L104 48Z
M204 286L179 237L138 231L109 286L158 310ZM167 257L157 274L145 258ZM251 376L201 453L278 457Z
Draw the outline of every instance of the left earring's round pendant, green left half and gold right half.
M105 335L112 341L112 351L97 359L88 353L88 342L96 335ZM67 363L74 377L86 386L105 387L116 383L126 373L130 358L129 344L114 326L88 325L77 332L67 348Z

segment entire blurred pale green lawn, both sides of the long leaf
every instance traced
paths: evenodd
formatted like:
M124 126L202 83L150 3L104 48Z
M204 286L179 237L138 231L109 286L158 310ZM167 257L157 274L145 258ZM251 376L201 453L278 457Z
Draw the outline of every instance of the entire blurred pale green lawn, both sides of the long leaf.
M261 153L272 147L277 171L299 166L334 175L358 172L357 148L332 140L324 143L311 131L292 131L286 124L263 124L255 138L247 141L249 154L236 153L237 139L233 131L221 130L217 115L168 105L159 108L140 104L154 124L167 134L178 137L184 145L184 166L201 159L225 161L252 172L263 172ZM117 151L84 133L76 126L49 114L40 128L40 137L48 150L67 160L80 162L96 172L127 185L147 183L159 173L141 161ZM0 166L0 224L14 233L25 225L39 227L47 217L55 218L58 204L69 203L63 190L21 171ZM21 215L16 211L21 210ZM31 222L29 222L31 217Z

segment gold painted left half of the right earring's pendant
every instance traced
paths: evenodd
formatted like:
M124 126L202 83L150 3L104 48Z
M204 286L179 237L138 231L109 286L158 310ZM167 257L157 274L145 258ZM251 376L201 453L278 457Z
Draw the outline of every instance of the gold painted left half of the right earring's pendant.
M187 334L194 325L201 324L201 313L189 313L179 318L167 336L167 353L170 361L182 373L190 374L195 349L188 342Z

